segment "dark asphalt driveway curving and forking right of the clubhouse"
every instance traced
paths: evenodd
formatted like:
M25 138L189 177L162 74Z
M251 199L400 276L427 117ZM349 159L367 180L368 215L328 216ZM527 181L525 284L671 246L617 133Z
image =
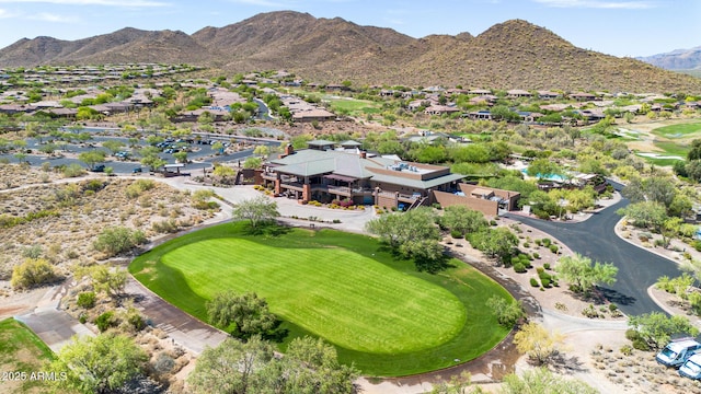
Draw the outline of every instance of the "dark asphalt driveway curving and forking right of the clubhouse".
M616 211L628 204L628 199L621 199L578 223L543 221L515 215L505 217L542 230L595 262L613 263L619 269L616 282L599 288L629 316L665 312L650 298L647 288L660 276L676 277L681 271L676 263L632 245L616 234L616 223L621 219Z

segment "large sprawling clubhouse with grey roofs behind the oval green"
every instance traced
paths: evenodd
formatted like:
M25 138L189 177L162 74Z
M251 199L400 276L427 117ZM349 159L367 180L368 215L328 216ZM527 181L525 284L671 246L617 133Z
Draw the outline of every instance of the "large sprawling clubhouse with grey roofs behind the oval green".
M288 146L285 154L264 164L263 185L302 204L338 199L409 209L432 202L433 190L456 190L463 177L447 166L368 158L363 151L313 149L329 148L323 142L330 141L300 151Z

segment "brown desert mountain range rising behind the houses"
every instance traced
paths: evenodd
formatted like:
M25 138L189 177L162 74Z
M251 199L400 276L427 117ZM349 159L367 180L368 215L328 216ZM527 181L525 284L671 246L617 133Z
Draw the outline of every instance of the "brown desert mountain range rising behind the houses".
M521 20L478 36L413 38L341 18L277 11L192 35L127 27L78 40L24 38L0 49L0 67L116 62L186 62L231 72L287 69L314 82L356 85L701 92L701 79L577 48Z

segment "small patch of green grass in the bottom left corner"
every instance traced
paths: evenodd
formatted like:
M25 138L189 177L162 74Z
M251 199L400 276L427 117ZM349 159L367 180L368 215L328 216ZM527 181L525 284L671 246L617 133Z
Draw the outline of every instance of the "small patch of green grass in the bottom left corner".
M27 326L5 318L0 321L0 368L3 372L25 372L24 381L1 382L2 393L39 393L47 382L31 380L32 372L51 372L44 366L54 359L51 349ZM61 371L54 371L61 372Z

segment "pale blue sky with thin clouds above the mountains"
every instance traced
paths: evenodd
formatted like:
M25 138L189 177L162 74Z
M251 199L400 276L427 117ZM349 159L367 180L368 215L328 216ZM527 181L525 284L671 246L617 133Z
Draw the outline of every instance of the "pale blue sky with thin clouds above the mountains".
M614 56L701 46L701 0L0 0L0 48L23 37L79 39L127 26L192 34L279 10L340 16L412 37L478 35L522 19Z

